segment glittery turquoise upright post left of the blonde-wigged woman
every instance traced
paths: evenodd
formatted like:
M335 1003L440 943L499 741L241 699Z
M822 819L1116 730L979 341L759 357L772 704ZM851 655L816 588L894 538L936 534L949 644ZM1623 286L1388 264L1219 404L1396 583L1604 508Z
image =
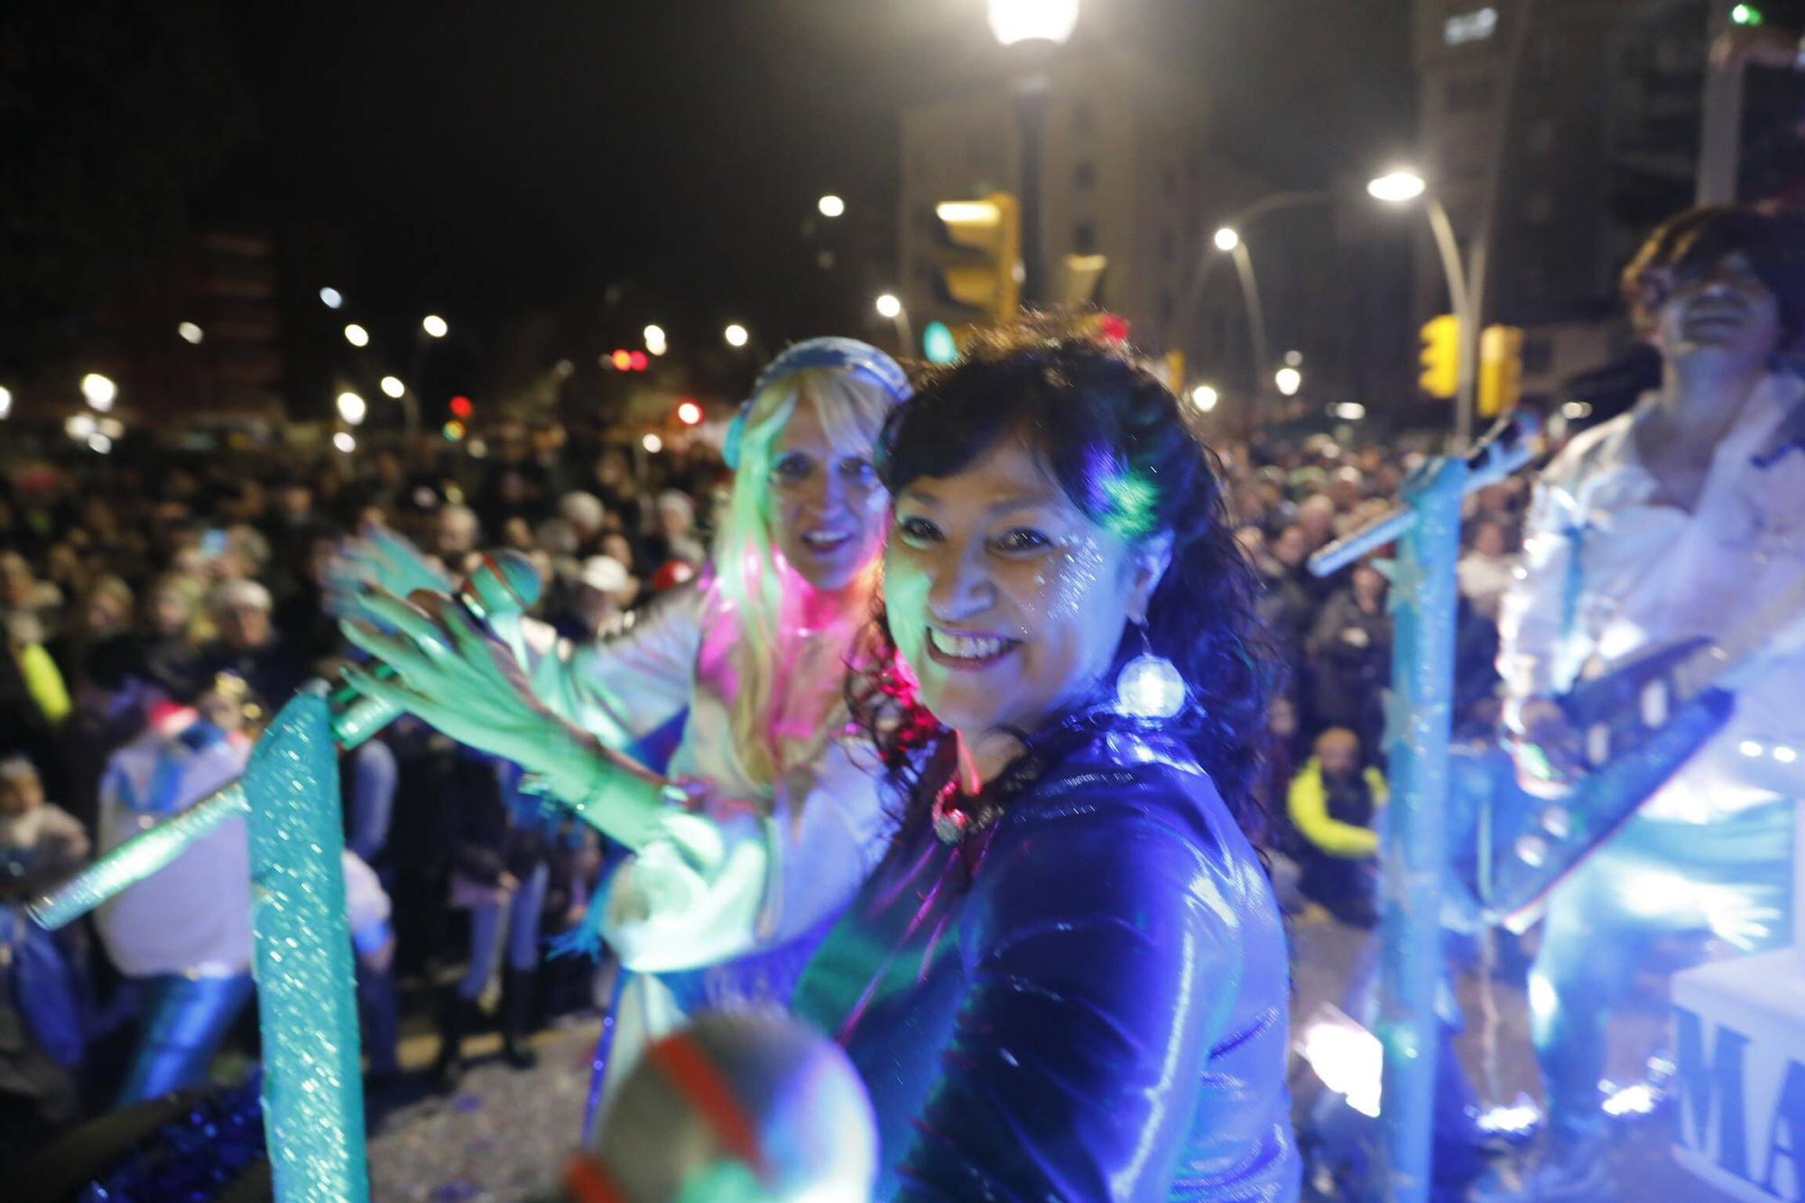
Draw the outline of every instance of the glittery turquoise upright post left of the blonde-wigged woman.
M368 1199L338 753L301 692L251 753L251 881L264 1111L276 1198Z

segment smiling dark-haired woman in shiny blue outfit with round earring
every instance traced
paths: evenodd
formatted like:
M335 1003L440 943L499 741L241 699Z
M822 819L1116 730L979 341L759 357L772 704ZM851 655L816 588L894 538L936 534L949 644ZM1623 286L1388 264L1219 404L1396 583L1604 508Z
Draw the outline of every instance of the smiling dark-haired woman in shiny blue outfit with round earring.
M1213 455L1125 354L1023 325L879 462L848 695L902 815L794 999L872 1095L877 1196L1294 1198L1273 659Z

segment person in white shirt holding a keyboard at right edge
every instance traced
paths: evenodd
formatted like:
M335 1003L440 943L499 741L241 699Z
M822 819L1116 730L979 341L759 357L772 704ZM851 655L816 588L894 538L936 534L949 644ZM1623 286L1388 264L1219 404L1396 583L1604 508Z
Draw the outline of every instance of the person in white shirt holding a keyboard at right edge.
M1724 639L1805 583L1805 381L1780 359L1805 334L1805 220L1686 211L1643 246L1624 294L1661 350L1661 387L1547 468L1502 602L1505 721L1532 791L1550 766L1578 768L1554 697L1653 648ZM1520 1198L1608 1198L1605 1024L1657 939L1709 932L1742 952L1789 939L1800 620L1722 681L1729 724L1549 898L1529 1001L1550 1145Z

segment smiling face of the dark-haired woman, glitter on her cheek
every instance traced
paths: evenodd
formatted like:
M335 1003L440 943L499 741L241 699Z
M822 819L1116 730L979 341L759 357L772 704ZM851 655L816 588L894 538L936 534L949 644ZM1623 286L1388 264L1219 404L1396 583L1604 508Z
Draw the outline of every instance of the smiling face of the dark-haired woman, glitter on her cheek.
M967 739L1034 732L1083 701L1153 583L1148 558L1079 511L1016 439L897 493L890 632L921 701Z

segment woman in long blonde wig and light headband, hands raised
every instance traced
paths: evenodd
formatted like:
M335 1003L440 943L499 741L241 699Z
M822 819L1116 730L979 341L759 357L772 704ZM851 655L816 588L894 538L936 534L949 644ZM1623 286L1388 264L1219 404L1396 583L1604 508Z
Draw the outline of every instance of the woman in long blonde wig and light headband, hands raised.
M623 638L572 647L496 623L498 643L458 607L381 591L357 609L393 634L347 625L399 674L365 677L372 694L520 762L634 853L601 905L603 936L639 972L617 1069L700 1004L785 1001L883 854L890 824L841 677L888 515L870 452L906 396L902 368L854 340L778 356L727 435L735 480L709 565ZM668 775L619 751L684 712Z

